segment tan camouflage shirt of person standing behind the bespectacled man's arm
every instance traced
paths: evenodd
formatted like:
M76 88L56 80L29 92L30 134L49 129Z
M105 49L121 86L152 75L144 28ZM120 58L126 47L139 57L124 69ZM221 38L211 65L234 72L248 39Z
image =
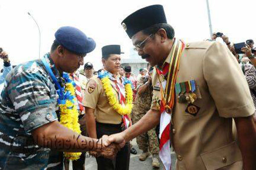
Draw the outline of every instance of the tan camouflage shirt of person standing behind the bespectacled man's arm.
M140 88L141 85L144 85L147 81L147 77L141 77L140 80L138 80L137 82L137 90ZM153 96L152 83L150 83L147 88L148 89L144 91L142 94L137 93L132 111L133 114L143 114L147 113L147 111L150 110Z

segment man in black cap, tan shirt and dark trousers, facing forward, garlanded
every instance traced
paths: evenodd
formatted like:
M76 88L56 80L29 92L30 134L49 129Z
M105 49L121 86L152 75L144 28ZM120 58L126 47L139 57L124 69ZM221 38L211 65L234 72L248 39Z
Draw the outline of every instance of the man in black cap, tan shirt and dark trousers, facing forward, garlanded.
M112 91L117 101L122 103L125 96L124 78L118 72L121 65L120 45L106 45L102 47L102 63L104 69L99 77L92 77L87 83L84 93L83 105L85 107L86 129L89 136L100 139L103 135L119 133L123 126L123 116L118 113L109 103L105 94L101 76L108 75ZM132 95L132 94L131 94ZM129 119L131 123L131 119ZM127 125L127 124L126 124ZM90 154L94 154L91 152ZM130 162L130 143L127 142L116 155L111 159L103 156L96 157L98 170L128 170Z

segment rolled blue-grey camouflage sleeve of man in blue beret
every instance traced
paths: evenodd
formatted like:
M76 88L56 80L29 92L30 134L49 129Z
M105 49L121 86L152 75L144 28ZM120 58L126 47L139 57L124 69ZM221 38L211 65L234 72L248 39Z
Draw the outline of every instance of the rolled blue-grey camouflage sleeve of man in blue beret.
M24 69L13 75L6 87L9 100L19 113L26 133L58 119L55 113L55 88L43 72L37 66L34 70Z

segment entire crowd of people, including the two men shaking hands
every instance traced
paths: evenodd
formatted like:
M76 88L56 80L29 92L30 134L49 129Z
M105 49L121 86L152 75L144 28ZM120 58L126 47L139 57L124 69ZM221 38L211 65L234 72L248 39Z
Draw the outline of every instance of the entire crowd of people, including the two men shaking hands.
M98 170L128 170L136 138L139 159L152 155L155 168L160 159L171 169L172 146L178 170L255 170L253 40L238 48L214 33L211 40L183 42L161 5L121 24L148 62L138 75L121 65L120 45L102 47L99 71L84 64L96 42L70 26L55 32L42 59L13 69L0 48L0 169L62 170L71 160L82 170L88 151Z

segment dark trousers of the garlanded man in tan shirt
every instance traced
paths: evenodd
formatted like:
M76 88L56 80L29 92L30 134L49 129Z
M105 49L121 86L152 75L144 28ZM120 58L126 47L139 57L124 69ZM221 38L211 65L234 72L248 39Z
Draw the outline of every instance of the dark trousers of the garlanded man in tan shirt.
M112 135L122 132L121 124L105 124L96 122L97 138L101 138L103 135ZM130 142L127 142L125 146L117 153L116 158L111 160L99 156L96 158L98 164L98 170L129 170L130 164Z

